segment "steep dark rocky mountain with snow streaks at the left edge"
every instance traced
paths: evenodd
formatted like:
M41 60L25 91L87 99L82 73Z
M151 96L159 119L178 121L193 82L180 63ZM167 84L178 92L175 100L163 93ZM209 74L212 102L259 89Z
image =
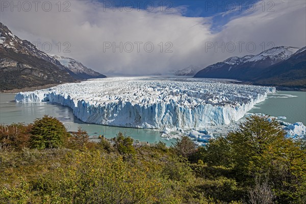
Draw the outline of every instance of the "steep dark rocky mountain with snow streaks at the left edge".
M42 52L31 42L13 35L1 22L0 50L0 91L78 82L97 77L94 71L91 76L88 68L84 68L84 74L74 73L69 66L63 66L60 61ZM77 63L72 64L77 66Z

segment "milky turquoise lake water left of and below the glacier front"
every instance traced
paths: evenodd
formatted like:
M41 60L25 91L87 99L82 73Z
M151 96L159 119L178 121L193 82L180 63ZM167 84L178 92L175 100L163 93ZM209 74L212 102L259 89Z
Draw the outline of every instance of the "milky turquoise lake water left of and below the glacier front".
M15 94L0 93L0 123L31 123L36 118L49 115L62 121L68 131L77 131L81 126L90 136L104 135L106 138L113 138L121 132L133 139L149 143L163 141L169 146L171 142L175 142L175 139L162 139L162 133L159 131L88 124L75 117L68 107L52 103L15 103L14 97Z

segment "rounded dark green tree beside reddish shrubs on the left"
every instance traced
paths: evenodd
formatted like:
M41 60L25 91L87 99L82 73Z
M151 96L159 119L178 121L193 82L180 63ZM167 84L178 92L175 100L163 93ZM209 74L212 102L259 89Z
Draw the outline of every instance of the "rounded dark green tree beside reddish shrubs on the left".
M37 149L61 147L69 136L63 123L47 115L34 120L30 133L31 147Z

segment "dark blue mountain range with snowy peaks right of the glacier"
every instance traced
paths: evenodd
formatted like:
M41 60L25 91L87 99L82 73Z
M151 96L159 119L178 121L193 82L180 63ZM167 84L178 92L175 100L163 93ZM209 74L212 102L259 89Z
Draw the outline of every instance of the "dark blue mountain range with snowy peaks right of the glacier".
M258 55L228 58L200 70L194 77L236 79L273 86L285 83L284 86L304 87L305 52L305 48L273 47ZM290 76L287 75L289 73ZM281 83L279 80L284 81Z

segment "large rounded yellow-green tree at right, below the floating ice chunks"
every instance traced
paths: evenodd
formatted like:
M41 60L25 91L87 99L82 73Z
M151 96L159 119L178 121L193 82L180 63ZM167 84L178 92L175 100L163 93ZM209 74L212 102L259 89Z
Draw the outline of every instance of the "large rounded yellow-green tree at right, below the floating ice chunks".
M254 177L273 168L274 160L281 156L285 145L285 131L268 116L251 116L231 132L226 139L230 142L235 168L244 176Z

